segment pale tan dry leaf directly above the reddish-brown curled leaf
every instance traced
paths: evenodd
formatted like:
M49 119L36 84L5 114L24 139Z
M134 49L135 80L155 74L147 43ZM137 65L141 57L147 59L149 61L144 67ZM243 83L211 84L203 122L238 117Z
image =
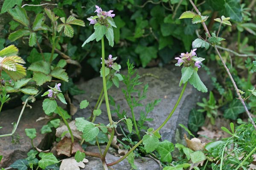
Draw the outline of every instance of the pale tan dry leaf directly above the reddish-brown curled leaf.
M76 139L81 140L81 139L82 139L82 138L81 138L82 133L77 130L75 123L76 123L76 121L73 120L73 121L69 122L68 125L70 126L70 129L72 130L73 136L74 136ZM59 138L59 137L61 137L61 134L62 134L63 132L65 132L65 131L68 131L68 129L67 129L67 126L66 126L66 125L63 125L63 126L58 127L58 128L56 129L56 134L55 134L55 135ZM71 138L70 133L66 133L65 136L68 137L68 138ZM63 139L65 136L63 136L61 139Z

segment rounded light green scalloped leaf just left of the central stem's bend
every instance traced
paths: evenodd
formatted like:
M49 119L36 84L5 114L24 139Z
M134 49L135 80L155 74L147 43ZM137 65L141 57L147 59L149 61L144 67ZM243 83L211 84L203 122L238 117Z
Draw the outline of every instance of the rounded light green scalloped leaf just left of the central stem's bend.
M99 128L95 127L92 123L87 124L83 130L83 139L86 142L92 141L99 133Z

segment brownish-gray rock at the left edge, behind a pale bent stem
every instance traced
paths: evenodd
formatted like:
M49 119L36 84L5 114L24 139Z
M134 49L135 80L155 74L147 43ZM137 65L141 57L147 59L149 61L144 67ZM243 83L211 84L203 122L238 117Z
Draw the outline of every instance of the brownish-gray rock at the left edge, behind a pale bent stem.
M21 137L21 139L19 139L19 143L13 144L11 136L0 138L0 155L3 155L3 159L0 162L0 167L8 167L17 159L24 159L27 157L27 153L32 149L32 145L31 139L26 136L26 128L36 129L37 137L33 140L33 143L40 149L44 149L44 142L47 141L44 140L46 135L41 134L41 127L46 125L49 120L44 119L35 122L39 117L45 116L42 109L42 101L32 103L31 106L32 109L28 107L25 108L15 133L15 136L18 134ZM12 122L17 122L21 109L22 106L0 113L0 126L3 127L0 129L0 135L12 133Z

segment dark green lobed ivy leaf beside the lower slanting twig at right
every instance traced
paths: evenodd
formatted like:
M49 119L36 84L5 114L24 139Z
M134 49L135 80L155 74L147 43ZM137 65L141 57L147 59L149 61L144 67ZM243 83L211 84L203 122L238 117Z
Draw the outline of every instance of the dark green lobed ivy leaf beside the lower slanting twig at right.
M249 106L247 106L247 107L249 107ZM248 108L248 109L250 109L250 108ZM244 110L244 106L242 105L242 103L237 99L233 99L233 101L230 103L228 108L225 109L223 116L226 119L236 120L238 115L243 112L245 112L245 110Z

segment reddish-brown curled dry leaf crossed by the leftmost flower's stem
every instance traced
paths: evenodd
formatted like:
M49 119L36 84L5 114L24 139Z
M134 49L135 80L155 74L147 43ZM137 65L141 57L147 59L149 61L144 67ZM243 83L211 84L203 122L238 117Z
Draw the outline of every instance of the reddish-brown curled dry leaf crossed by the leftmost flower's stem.
M71 145L71 139L65 137L64 139L62 139L60 142L58 142L57 146L56 146L56 151L58 155L66 155L66 156L71 156L70 155L70 145ZM76 153L76 151L82 151L82 147L79 144L79 142L75 141L73 143L73 147L72 147L72 154Z

